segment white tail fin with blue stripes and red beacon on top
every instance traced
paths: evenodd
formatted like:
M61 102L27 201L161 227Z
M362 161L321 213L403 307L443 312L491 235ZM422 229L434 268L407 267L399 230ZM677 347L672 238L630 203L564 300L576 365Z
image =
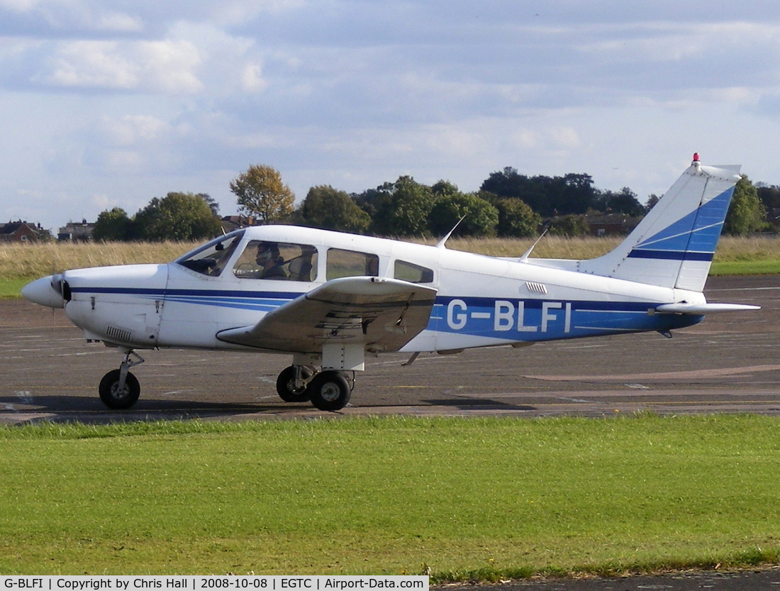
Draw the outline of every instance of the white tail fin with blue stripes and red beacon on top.
M583 272L702 291L729 211L739 166L691 166L614 251Z

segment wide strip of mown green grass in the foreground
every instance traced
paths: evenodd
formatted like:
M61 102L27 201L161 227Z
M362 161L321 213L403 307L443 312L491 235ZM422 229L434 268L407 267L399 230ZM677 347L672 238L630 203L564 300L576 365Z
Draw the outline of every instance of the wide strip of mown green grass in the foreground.
M780 422L350 418L0 429L0 573L418 574L780 558Z

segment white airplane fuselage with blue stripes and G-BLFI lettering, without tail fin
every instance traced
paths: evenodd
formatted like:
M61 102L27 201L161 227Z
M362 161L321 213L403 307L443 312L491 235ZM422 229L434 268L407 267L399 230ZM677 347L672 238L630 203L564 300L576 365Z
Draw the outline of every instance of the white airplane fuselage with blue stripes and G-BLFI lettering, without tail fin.
M240 261L258 240L305 245L307 254L314 254L313 268L295 280L251 276ZM438 290L427 327L402 347L411 352L666 331L690 326L701 316L656 315L658 305L704 301L697 292L536 265L533 259L519 262L293 226L241 230L234 243L217 276L183 264L190 255L164 265L67 271L62 276L69 288L66 315L88 339L119 347L244 348L219 340L218 333L252 326L334 276L371 274ZM339 266L334 261L344 253L367 255L373 266ZM293 263L287 265L292 269Z

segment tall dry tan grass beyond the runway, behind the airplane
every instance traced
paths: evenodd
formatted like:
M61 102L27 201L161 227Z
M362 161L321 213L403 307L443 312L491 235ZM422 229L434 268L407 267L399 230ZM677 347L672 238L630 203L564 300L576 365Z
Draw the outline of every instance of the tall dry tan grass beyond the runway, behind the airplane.
M537 258L594 258L604 255L622 240L607 238L544 237L534 248ZM435 240L425 241L435 244ZM452 250L477 252L481 255L519 257L534 240L509 238L452 238ZM127 265L146 262L169 262L192 250L197 243L124 243L101 244L19 244L0 243L0 277L34 279L52 270L81 269L103 265ZM722 237L715 253L716 262L780 261L780 237Z

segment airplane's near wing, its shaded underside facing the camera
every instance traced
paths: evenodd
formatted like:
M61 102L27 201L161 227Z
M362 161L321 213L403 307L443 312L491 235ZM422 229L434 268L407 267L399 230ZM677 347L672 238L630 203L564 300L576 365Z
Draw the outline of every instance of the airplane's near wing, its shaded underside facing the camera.
M326 343L398 351L427 326L436 293L399 279L332 279L268 312L256 325L223 330L217 338L293 353L320 353Z

